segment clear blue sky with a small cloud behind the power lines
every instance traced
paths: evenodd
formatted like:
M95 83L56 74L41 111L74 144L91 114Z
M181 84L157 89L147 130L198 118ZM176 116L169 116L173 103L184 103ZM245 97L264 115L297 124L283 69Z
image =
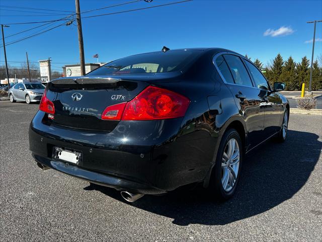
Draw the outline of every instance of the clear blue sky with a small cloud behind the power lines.
M129 1L81 0L81 12ZM140 1L83 14L82 17L177 1L180 0L154 0L152 3ZM66 12L14 9L4 6L60 11L74 11L75 9L73 0L2 0L0 5L0 23L2 24L46 21L64 17L64 15L35 16L47 15L46 13L67 14ZM252 60L257 57L264 64L280 52L284 58L292 55L298 62L304 55L311 57L312 43L306 42L313 38L313 24L307 24L306 21L321 19L322 1L210 0L194 0L166 7L88 18L83 19L86 63L95 63L96 59L92 56L96 53L99 54L100 62L107 62L126 55L160 50L164 45L171 49L223 47L243 55L247 53ZM56 25L58 23L50 27ZM37 25L11 25L10 28L5 28L5 33L8 36L35 26ZM47 26L49 25L44 27ZM6 42L23 38L40 30L41 28L38 28L6 38ZM322 23L317 23L316 39L319 41L315 42L315 57L322 52ZM26 51L28 51L29 59L34 62L51 57L53 69L57 70L61 70L64 64L78 63L77 28L74 25L61 26L39 36L8 45L7 57L11 62L10 65L20 66L19 63L13 62L25 61ZM4 52L1 48L0 65L3 64Z

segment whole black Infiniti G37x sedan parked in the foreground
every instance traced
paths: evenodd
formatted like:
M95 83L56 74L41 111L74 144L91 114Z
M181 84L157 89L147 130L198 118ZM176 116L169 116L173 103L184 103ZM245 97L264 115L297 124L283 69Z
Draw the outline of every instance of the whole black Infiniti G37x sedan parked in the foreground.
M49 82L29 130L38 166L115 188L128 202L197 183L230 198L245 155L286 138L285 84L271 87L230 50L167 50Z

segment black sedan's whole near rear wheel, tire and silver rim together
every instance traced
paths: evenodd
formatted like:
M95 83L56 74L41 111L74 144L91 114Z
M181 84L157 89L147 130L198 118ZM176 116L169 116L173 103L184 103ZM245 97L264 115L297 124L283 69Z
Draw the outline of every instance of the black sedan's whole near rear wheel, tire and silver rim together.
M231 153L230 149L233 147ZM226 201L233 196L238 185L243 158L243 143L238 132L235 129L227 130L221 139L209 181L208 190L212 199Z

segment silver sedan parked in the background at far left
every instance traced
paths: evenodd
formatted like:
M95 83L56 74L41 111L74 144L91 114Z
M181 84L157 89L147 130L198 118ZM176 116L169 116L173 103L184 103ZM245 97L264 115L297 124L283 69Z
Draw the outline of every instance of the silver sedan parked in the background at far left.
M9 89L8 95L11 102L26 101L30 104L41 100L45 88L45 85L37 82L17 83Z

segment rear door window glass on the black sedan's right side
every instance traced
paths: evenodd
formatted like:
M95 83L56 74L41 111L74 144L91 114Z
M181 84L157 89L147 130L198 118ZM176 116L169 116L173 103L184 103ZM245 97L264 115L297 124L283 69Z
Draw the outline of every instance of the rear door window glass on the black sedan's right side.
M224 54L223 57L228 64L235 84L253 87L250 75L248 74L243 62L241 62L241 59L232 54Z

